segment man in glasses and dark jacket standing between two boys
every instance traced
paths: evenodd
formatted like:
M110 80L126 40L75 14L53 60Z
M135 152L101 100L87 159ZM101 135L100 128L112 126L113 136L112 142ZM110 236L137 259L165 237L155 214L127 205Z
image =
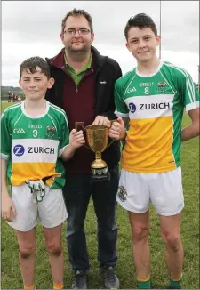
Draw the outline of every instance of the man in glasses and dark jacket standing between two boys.
M116 60L92 46L92 18L84 10L68 12L62 20L60 34L64 48L50 64L55 85L46 99L64 109L69 130L76 121L87 125L110 125L115 119L114 84L122 76ZM86 289L90 268L84 219L92 197L98 222L98 260L104 288L119 288L115 273L116 255L116 191L118 188L119 142L115 141L102 153L108 165L109 181L92 182L91 163L94 153L83 147L66 164L66 185L63 189L68 210L67 241L72 265L72 288Z

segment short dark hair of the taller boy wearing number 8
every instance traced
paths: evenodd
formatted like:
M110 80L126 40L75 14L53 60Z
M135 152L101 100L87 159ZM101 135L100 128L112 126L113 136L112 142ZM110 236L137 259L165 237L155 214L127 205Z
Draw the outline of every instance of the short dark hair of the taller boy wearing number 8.
M132 16L126 23L124 35L127 41L128 41L128 32L131 28L140 28L140 29L151 28L155 36L157 36L156 24L154 23L152 18L145 13L137 14L134 17Z

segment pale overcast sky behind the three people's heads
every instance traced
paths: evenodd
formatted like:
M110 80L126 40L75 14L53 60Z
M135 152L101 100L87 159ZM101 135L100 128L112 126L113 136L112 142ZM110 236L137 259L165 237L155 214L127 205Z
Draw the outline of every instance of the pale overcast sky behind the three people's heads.
M61 20L73 8L92 15L93 45L114 58L123 73L136 61L125 47L127 20L140 12L150 15L160 32L160 1L3 1L2 85L19 86L19 67L31 56L53 57L63 44ZM163 60L185 68L198 81L199 2L162 1L161 36ZM158 50L157 50L158 55Z

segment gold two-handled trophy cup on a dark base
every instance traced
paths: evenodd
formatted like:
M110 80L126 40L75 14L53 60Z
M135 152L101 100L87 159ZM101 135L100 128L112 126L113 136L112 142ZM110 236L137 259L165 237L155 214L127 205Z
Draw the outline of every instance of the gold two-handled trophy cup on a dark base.
M114 121L116 120L112 120L111 122ZM108 126L88 125L84 128L84 122L76 122L76 131L78 129L78 125L80 125L86 132L86 139L90 148L86 145L84 146L87 149L92 149L95 153L95 160L91 164L92 181L109 180L110 174L108 173L108 165L101 158L101 152L108 148L114 141L113 140L108 144Z

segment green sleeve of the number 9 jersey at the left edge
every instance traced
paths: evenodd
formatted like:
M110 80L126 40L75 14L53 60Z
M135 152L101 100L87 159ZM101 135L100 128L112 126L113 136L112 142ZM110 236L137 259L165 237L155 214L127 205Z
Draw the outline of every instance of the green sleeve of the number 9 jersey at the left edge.
M1 119L1 158L7 160L11 156L12 133L9 130L9 118L5 112Z

